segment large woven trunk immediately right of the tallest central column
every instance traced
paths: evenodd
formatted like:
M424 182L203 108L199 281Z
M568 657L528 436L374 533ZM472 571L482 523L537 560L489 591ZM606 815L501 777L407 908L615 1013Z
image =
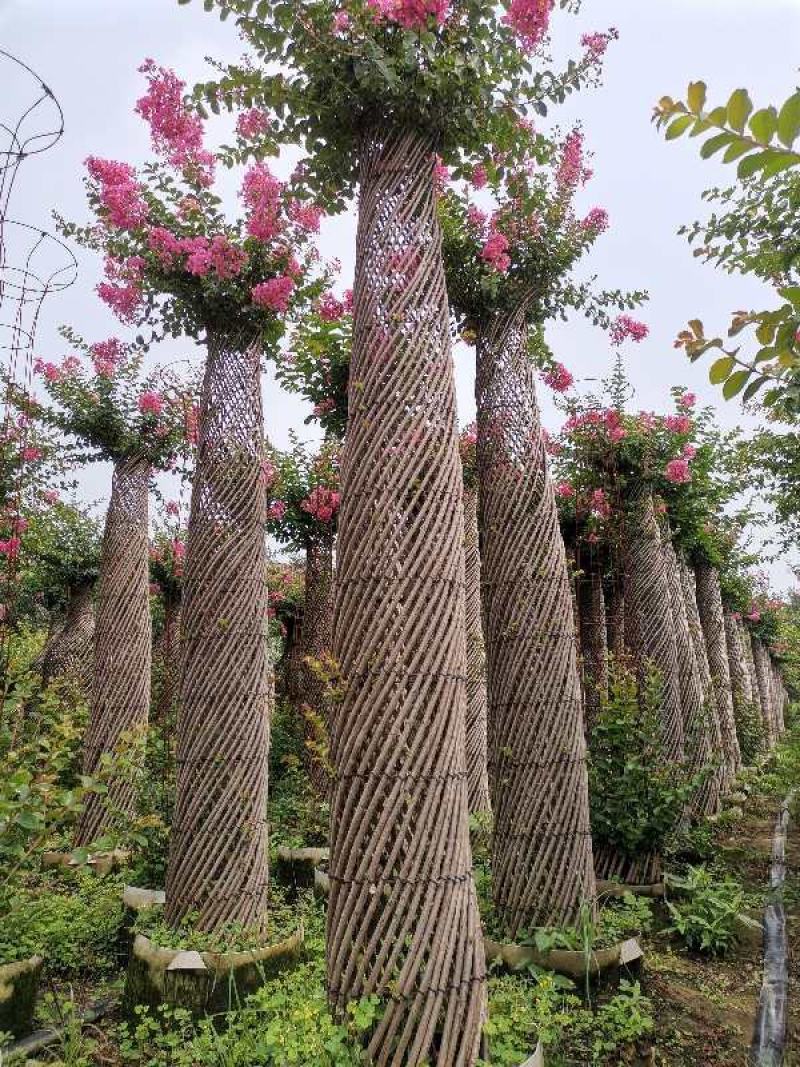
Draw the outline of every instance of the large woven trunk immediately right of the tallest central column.
M495 907L513 936L594 896L566 554L521 309L479 331L476 401Z

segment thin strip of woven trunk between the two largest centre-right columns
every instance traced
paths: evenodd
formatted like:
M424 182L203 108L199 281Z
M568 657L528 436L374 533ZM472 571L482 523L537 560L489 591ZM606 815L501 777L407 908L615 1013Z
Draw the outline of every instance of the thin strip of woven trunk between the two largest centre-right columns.
M478 492L464 487L464 603L467 641L466 760L469 811L491 809L486 766L486 649L481 616Z

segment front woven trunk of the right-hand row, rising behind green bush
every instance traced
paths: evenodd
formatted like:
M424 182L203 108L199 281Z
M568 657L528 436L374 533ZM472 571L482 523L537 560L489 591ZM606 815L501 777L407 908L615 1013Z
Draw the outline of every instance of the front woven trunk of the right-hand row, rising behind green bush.
M645 485L628 497L624 530L625 639L640 670L661 675L661 738L668 762L684 757L681 681L661 539L653 495Z

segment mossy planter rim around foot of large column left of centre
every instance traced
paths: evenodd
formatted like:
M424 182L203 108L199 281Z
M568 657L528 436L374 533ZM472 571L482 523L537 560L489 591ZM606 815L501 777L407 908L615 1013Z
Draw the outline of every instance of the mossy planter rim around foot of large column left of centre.
M303 931L286 941L250 952L185 952L161 949L142 934L133 939L123 996L123 1012L137 1005L187 1008L192 1015L217 1015L300 961Z

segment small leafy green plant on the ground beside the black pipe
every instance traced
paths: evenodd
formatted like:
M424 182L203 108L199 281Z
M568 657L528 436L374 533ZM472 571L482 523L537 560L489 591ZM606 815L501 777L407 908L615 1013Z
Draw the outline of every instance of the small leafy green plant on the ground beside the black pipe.
M677 902L668 901L670 930L692 952L724 956L736 943L745 904L740 882L707 867L690 866L685 878L670 877Z

